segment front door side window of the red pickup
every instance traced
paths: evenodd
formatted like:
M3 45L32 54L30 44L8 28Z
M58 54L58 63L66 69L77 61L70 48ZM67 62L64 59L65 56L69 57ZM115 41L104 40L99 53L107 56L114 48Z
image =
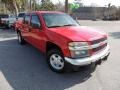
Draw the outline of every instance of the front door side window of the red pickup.
M33 27L35 29L39 29L41 27L41 23L40 23L39 17L37 15L31 16L31 27Z

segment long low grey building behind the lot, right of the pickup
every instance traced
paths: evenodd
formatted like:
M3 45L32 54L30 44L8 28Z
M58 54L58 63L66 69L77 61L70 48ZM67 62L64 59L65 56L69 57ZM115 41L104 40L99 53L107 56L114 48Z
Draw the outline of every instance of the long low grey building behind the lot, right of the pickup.
M73 10L73 17L83 20L116 19L116 7L79 7Z

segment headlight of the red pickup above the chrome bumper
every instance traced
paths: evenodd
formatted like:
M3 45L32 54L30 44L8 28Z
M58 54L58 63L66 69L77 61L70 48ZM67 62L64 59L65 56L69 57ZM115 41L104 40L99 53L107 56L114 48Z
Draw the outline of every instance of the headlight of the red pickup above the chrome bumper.
M69 50L72 58L82 58L90 56L89 45L87 42L71 42L69 43Z

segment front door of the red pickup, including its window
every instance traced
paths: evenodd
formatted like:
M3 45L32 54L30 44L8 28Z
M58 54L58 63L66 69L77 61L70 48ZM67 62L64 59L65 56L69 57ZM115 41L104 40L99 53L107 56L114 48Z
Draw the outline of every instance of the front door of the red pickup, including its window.
M42 25L39 16L32 14L30 23L30 37L32 44L43 51L45 47L45 33L41 27Z

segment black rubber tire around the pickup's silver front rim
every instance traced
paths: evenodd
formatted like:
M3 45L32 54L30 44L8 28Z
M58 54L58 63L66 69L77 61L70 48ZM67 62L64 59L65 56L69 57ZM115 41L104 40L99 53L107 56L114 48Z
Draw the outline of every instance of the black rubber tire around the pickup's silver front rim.
M52 57L52 55L55 55L55 54L58 55L58 56L60 56L60 57L61 57L61 60L60 60L60 61L62 61L62 63L64 63L64 66L63 66L61 69L56 69L56 68L54 68L54 67L52 66L52 64L51 64L51 57ZM62 54L62 52L61 52L60 50L58 50L58 49L51 49L51 50L49 50L49 51L47 52L47 62L48 62L48 65L49 65L50 69L51 69L52 71L54 71L54 72L63 73L63 72L66 70L66 63L65 63L63 54Z

